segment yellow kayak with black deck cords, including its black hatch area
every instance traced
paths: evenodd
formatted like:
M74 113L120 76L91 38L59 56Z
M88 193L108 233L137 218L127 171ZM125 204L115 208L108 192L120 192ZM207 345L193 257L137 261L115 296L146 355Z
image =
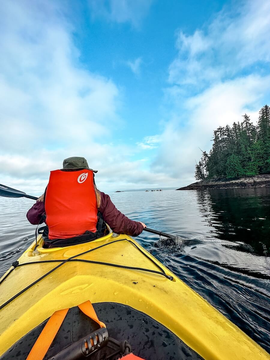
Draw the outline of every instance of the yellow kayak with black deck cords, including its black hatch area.
M42 245L40 235L36 249L34 242L1 280L1 360L11 354L26 359L31 350L27 344L34 341L28 339L40 324L55 311L75 309L87 300L108 333L118 341L127 338L134 354L146 360L269 359L265 350L129 236L110 231L75 246ZM72 314L74 318L78 311ZM72 321L75 338L82 321ZM69 334L70 328L66 331Z

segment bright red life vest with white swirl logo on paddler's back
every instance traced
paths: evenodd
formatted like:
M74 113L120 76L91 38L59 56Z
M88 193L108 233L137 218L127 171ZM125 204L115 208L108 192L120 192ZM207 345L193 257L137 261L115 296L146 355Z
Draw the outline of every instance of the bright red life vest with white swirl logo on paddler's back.
M93 171L54 170L45 194L49 239L66 239L96 232L98 207Z

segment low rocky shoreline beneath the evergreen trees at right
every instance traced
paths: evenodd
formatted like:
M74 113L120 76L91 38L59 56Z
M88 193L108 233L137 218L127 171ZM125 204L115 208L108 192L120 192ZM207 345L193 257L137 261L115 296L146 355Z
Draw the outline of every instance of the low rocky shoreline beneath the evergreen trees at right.
M270 186L270 174L235 177L233 179L197 181L197 183L176 190L264 188L266 186Z

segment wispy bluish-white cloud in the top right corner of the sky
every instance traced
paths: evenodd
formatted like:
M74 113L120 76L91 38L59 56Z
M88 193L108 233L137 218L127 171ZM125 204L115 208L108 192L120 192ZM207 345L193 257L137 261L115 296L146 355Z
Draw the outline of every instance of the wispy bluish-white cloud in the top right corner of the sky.
M268 0L246 1L230 11L225 7L205 31L193 35L179 31L179 54L170 65L169 81L201 89L252 64L269 63L269 19Z

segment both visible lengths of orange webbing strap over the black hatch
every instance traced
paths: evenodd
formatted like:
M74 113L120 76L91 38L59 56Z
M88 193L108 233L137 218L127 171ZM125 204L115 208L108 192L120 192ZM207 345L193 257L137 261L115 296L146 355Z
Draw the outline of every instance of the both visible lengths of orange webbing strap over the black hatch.
M89 316L89 318L98 323L101 328L106 327L102 321L99 321L94 307L89 300L78 305L78 307L85 315ZM51 315L48 323L41 331L40 336L37 338L26 360L42 360L44 358L51 346L51 343L53 342L53 339L60 329L68 310L69 309L58 310Z

